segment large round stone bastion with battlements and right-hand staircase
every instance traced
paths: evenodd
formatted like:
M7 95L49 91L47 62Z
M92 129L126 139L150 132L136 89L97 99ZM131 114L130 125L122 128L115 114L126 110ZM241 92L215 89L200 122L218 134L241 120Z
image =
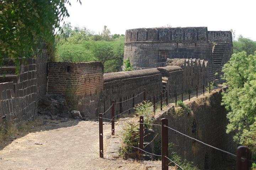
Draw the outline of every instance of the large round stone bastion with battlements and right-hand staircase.
M224 48L214 51L212 42ZM214 74L220 73L232 53L230 31L208 31L207 27L126 30L124 59L129 58L135 69L164 67L167 58L195 58L209 61L209 80L213 81L220 79L220 74Z

